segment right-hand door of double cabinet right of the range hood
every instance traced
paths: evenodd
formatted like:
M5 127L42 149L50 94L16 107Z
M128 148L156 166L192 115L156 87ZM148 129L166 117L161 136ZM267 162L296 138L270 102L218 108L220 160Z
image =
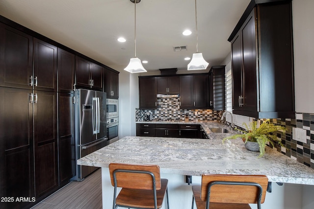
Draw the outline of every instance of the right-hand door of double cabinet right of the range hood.
M194 108L209 107L209 76L193 75L194 77Z

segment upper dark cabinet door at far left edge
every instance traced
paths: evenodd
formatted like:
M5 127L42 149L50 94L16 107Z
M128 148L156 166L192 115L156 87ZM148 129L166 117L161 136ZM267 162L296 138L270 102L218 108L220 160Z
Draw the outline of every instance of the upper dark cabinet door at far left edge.
M0 86L32 89L33 37L0 23Z

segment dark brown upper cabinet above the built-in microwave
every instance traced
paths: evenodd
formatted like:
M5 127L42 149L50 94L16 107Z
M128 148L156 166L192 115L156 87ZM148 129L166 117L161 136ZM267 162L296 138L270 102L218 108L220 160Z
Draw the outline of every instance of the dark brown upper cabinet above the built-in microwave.
M119 73L105 69L105 93L107 98L119 98Z

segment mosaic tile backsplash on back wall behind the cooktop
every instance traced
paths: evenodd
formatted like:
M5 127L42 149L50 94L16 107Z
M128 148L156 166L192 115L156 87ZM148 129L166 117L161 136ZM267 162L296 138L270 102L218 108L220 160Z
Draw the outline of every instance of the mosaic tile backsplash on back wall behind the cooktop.
M149 113L155 120L184 120L186 114L189 120L217 120L221 117L221 111L213 110L181 110L180 98L158 98L157 110L139 110L136 108L136 121L144 120L144 116Z

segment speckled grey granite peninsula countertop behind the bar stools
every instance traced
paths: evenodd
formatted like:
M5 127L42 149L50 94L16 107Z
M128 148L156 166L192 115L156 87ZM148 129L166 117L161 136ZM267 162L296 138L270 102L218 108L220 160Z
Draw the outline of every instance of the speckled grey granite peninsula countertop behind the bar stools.
M202 174L260 174L270 182L314 185L314 169L266 147L266 153L245 149L241 139L124 137L81 159L78 164L108 167L109 163L158 164L161 173L201 176Z

